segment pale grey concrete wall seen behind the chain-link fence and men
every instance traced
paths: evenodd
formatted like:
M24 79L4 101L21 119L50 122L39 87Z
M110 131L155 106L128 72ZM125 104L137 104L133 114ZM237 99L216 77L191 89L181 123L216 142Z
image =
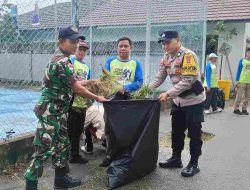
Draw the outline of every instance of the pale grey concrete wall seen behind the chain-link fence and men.
M42 82L44 70L50 60L50 54L0 54L0 79L24 80ZM99 78L101 75L101 64L105 65L108 55L94 55L92 57L92 78ZM145 70L145 55L135 55L141 62L143 71ZM161 55L150 57L150 76L152 81L160 66ZM90 62L90 57L85 58L86 63ZM170 86L169 81L165 83ZM166 88L166 85L161 88Z

